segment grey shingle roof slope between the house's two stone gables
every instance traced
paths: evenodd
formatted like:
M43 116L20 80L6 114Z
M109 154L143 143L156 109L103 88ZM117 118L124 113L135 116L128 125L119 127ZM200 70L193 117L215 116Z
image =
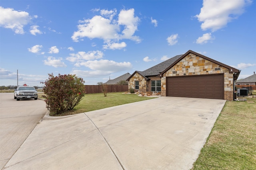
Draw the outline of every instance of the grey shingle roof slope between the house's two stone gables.
M176 55L162 63L159 63L151 68L148 68L142 72L139 72L142 76L157 76L160 72L164 71L168 66L177 61L182 55Z

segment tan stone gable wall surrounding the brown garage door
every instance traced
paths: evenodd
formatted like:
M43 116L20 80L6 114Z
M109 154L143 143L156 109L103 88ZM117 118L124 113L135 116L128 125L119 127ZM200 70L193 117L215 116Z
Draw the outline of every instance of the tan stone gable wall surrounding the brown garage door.
M220 70L215 70L220 68ZM175 64L170 70L166 71L161 78L161 94L166 96L166 77L168 76L184 76L186 75L202 75L202 74L218 74L224 73L224 99L233 100L233 73L229 73L229 69L220 66L211 61L205 60L192 53L189 53L179 63Z

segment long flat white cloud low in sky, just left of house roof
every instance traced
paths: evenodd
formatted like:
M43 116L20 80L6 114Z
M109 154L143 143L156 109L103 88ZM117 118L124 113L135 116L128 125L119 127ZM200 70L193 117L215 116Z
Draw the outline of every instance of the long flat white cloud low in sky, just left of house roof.
M110 60L94 60L79 63L80 66L86 66L92 70L100 70L106 72L120 72L132 68L130 62L117 63Z

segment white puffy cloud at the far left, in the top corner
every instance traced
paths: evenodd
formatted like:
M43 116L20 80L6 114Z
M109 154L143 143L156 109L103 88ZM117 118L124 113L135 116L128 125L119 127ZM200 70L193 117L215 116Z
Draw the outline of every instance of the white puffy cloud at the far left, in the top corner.
M17 34L24 34L24 25L32 19L28 12L15 11L13 8L0 6L0 26L10 28Z

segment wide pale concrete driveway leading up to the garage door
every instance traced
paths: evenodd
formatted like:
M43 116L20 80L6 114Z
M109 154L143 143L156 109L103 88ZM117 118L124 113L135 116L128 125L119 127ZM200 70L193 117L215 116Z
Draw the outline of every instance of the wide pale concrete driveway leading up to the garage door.
M6 169L188 170L225 100L160 97L46 115Z

